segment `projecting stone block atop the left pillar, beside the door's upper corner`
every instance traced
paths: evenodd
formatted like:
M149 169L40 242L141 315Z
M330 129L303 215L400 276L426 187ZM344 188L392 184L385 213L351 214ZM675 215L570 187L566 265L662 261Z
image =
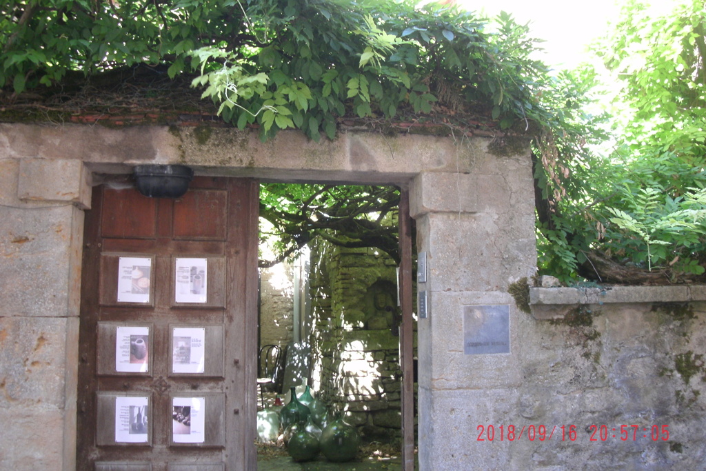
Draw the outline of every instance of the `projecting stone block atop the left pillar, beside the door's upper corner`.
M18 198L90 208L90 174L80 160L22 159Z

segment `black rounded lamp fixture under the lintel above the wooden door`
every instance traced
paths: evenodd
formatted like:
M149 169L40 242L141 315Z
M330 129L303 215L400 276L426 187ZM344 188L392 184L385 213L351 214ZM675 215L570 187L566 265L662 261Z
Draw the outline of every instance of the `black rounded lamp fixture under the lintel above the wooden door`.
M144 196L179 198L189 189L193 170L186 165L136 165L133 175Z

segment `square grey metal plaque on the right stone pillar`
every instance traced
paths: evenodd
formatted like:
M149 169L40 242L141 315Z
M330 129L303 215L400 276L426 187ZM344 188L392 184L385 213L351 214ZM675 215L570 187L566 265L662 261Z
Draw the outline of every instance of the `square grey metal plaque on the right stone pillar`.
M510 353L508 304L464 306L463 352L467 355Z

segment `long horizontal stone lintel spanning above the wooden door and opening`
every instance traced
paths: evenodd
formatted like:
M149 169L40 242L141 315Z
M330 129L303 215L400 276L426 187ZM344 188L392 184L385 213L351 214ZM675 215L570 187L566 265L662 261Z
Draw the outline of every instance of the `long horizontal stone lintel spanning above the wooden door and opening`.
M315 143L299 131L261 142L257 131L179 126L37 126L0 123L0 155L77 160L100 173L125 173L140 164L184 164L197 175L284 181L406 186L420 172L469 172L474 153L489 141L460 148L453 138L340 133ZM71 155L66 155L66 149Z

